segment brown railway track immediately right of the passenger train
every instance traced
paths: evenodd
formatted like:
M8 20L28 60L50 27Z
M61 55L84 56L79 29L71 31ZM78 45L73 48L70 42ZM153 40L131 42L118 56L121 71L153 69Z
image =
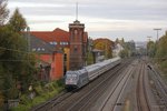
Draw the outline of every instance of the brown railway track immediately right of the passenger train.
M130 62L130 61L129 61ZM129 63L128 62L128 63ZM90 110L90 105L92 105L92 101L96 101L96 99L98 97L100 97L100 94L102 94L105 92L105 89L107 89L107 87L111 83L112 80L114 81L114 77L117 77L125 68L128 63L121 64L121 67L117 67L115 69L112 69L112 71L108 71L105 74L107 77L100 77L101 80L100 82L96 82L94 87L88 88L89 84L86 87L88 88L87 91L85 93L81 93L77 97L73 95L73 98L71 98L69 101L73 102L73 103L69 103L69 101L67 102L62 102L61 104L56 105L56 108L53 109L53 111L87 111ZM81 92L81 91L80 91ZM80 93L78 92L78 93Z

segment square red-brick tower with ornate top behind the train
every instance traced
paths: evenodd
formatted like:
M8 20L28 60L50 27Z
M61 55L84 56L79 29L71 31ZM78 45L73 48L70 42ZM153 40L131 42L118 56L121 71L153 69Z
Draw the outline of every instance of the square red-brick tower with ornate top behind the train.
M84 43L85 24L76 20L69 24L70 36L70 70L78 70L85 65L86 50Z

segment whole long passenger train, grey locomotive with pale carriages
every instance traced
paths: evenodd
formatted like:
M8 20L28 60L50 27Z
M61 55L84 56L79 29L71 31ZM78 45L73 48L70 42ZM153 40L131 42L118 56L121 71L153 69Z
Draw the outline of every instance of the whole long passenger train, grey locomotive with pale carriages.
M102 62L87 65L80 70L67 71L65 77L66 88L79 89L102 74L104 72L118 65L120 62L120 58L112 58Z

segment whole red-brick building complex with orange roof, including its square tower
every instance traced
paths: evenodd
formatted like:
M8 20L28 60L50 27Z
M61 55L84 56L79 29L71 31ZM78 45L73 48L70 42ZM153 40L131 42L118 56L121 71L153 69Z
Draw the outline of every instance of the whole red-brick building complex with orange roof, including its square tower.
M30 38L30 50L40 59L40 78L60 79L66 70L73 70L73 65L77 69L85 65L88 33L84 29L82 23L75 21L69 24L69 32L57 28L53 31L30 31L24 34Z

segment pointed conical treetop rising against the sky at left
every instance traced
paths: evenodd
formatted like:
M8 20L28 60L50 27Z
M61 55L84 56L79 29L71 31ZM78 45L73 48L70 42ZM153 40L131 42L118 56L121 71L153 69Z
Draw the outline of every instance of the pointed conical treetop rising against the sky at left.
M16 32L23 31L27 27L26 19L19 12L19 9L16 9L12 17L9 20L9 24L12 27L12 30Z

